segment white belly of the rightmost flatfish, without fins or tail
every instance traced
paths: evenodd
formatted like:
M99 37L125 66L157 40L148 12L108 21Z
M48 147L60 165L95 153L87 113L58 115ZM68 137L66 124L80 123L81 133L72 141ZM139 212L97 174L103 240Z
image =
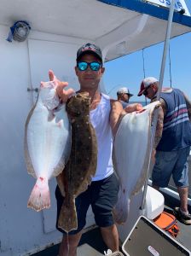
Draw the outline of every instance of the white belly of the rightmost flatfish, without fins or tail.
M149 116L147 112L129 113L124 116L114 139L115 168L122 188L135 189L149 143Z

